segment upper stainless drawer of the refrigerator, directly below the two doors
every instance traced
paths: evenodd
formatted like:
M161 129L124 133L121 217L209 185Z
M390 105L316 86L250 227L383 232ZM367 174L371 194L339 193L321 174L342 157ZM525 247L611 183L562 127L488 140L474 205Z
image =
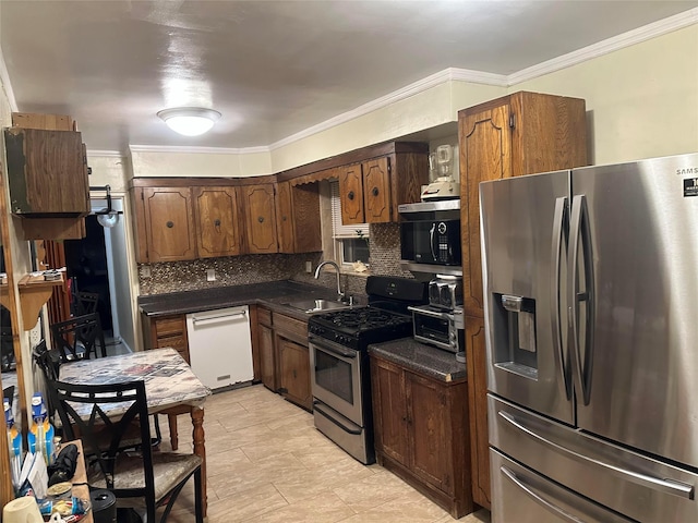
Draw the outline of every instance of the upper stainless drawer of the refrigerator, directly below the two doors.
M631 520L698 521L694 471L612 445L492 394L488 426L491 447ZM491 477L497 474L492 464ZM497 499L494 492L492 499Z

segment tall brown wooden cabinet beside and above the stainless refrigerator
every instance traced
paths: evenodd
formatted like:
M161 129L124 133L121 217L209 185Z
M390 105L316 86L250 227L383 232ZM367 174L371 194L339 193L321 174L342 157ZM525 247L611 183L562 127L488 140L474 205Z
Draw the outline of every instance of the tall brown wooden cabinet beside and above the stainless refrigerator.
M585 100L519 92L458 112L466 361L474 501L491 507L479 184L588 165Z

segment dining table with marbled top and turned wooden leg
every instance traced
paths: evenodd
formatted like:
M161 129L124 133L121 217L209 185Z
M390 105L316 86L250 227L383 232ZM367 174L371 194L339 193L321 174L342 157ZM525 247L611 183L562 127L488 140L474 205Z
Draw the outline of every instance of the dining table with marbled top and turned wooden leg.
M106 385L142 379L149 414L191 416L194 453L202 459L202 508L207 511L204 403L210 389L204 386L174 349L154 349L96 360L80 360L60 367L60 380L69 384ZM107 413L118 416L124 405L115 403Z

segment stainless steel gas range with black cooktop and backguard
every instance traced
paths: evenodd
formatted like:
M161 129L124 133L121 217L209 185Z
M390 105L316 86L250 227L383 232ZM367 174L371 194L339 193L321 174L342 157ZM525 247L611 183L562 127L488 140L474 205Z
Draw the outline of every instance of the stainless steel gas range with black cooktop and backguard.
M407 307L429 303L426 283L369 277L369 305L311 316L310 341L315 427L361 463L375 462L371 343L412 336Z

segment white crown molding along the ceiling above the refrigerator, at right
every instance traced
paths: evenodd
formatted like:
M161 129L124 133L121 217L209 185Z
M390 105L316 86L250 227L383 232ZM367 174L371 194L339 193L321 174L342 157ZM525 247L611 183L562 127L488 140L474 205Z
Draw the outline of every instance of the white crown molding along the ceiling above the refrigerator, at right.
M698 8L653 22L642 27L638 27L637 29L628 31L622 35L568 52L562 57L553 58L552 60L522 69L521 71L508 75L507 86L510 87L513 85L520 84L521 82L527 82L545 74L554 73L555 71L561 71L571 65L657 38L658 36L662 36L677 29L683 29L684 27L688 27L696 23L698 23Z

